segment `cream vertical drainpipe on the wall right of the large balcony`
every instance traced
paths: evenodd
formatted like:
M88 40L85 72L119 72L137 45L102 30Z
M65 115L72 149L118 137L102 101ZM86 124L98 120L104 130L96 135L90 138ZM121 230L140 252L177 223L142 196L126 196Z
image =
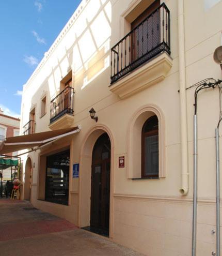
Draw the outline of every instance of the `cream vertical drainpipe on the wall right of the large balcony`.
M180 86L180 126L181 126L181 194L188 192L188 157L187 157L187 115L186 115L186 71L184 42L183 0L178 0L178 48L179 48L179 86Z

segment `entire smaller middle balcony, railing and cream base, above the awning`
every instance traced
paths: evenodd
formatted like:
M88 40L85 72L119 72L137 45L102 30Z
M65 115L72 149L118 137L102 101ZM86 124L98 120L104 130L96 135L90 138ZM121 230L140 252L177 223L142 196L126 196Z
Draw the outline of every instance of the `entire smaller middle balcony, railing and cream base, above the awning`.
M50 107L50 129L61 129L71 126L74 113L74 89L66 87L53 100Z

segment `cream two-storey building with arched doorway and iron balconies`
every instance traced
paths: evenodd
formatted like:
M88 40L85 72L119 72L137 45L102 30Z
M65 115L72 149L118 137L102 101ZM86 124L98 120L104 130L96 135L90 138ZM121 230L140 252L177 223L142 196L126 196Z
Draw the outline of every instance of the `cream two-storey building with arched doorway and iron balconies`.
M186 88L221 79L221 11L221 1L83 0L23 89L24 134L52 130L22 157L23 198L147 255L191 255L195 87ZM216 244L218 118L218 89L201 92L201 256Z

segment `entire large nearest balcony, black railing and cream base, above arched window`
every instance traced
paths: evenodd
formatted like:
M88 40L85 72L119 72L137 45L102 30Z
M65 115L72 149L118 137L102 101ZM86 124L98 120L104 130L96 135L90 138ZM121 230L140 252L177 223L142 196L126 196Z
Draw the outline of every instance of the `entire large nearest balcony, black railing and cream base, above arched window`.
M170 12L163 3L111 49L110 91L126 98L162 81L169 55Z

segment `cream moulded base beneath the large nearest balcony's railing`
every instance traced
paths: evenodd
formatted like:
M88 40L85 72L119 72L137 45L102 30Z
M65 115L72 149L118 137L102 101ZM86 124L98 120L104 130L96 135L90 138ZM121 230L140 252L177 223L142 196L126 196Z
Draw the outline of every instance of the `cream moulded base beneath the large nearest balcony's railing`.
M109 90L121 99L130 97L151 85L163 81L171 67L172 59L164 52L110 85Z

